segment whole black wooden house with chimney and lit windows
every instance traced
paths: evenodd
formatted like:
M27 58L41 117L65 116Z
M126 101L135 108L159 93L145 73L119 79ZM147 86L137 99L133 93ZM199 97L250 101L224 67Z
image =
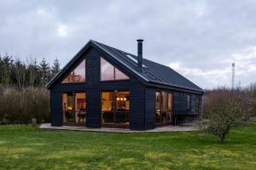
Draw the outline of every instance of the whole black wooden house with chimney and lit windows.
M170 67L90 40L47 84L52 126L146 130L197 116L204 91Z

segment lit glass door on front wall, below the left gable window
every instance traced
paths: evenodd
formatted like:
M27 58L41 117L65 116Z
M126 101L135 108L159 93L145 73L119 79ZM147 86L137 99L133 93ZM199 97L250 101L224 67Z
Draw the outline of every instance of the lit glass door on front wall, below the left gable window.
M86 122L85 93L62 94L63 122Z

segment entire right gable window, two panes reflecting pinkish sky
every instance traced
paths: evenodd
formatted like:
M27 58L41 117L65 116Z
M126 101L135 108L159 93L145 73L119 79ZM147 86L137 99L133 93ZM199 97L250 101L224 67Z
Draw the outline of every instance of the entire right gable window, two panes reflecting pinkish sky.
M122 71L108 63L107 60L101 58L101 81L108 80L128 80L129 77Z

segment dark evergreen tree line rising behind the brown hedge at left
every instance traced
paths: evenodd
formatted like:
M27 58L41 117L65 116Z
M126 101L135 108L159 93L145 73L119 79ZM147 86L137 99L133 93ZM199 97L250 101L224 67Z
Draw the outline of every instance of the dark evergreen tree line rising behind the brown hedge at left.
M12 55L0 55L0 84L18 88L44 87L52 77L61 70L60 62L55 59L53 64L43 58L21 61Z

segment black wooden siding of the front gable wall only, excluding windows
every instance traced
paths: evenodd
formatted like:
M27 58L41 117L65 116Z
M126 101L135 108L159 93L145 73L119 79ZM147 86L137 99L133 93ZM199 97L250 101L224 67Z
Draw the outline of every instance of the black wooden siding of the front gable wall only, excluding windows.
M130 80L125 81L100 81L100 56L96 50L90 50L84 54L82 59L74 64L73 68L85 58L86 62L86 82L83 83L65 83L61 84L64 77L50 88L51 94L51 122L53 126L62 125L62 104L61 92L85 92L86 93L86 126L87 127L101 127L102 121L102 91L130 91L130 128L136 130L145 129L145 88L143 83L137 81L129 72L123 71L119 65L116 65L108 58L108 62L115 65L119 70L125 72L130 77Z

